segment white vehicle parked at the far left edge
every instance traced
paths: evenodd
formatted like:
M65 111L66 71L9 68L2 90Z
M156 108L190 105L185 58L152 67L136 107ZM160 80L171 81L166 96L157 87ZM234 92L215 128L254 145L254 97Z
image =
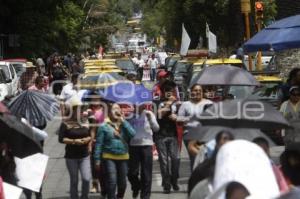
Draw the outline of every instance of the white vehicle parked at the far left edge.
M5 80L8 86L8 95L16 95L18 93L19 78L14 67L9 62L0 61L0 69L2 69L5 74Z

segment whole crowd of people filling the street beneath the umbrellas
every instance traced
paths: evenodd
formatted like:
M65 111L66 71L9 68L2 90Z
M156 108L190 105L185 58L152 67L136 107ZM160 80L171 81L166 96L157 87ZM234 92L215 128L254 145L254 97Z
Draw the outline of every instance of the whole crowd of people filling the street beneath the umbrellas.
M133 62L138 66L138 79L142 79L146 63L141 59L141 55L133 58ZM151 80L157 81L152 90L152 108L145 104L135 104L129 116L123 113L119 104L106 101L97 92L91 92L83 98L78 97L80 92L77 88L78 77L84 72L82 57L76 58L68 54L61 59L54 54L46 64L43 60L37 60L36 65L37 67L28 67L22 74L20 85L22 90L45 92L49 88L45 86L44 76L49 77L50 83L56 81L53 93L60 96L59 99L63 101L61 105L63 121L58 141L66 145L64 157L70 177L71 199L89 198L90 192L100 192L102 197L108 199L124 198L127 178L131 184L133 198L150 198L154 148L158 151L163 192L170 194L172 190L180 190L178 184L182 143L180 129L183 128L183 134L189 133L193 118L213 103L208 99L210 89L199 84L192 85L189 101L181 102L172 74L164 70L157 72L159 63L153 54L147 63L151 68ZM241 175L243 172L249 172L247 175L251 176L251 172L254 173L256 169L249 168L255 165L250 161L256 160L266 170L260 178L266 175L266 179L270 179L266 182L271 183L264 185L266 190L270 186L276 186L270 188L269 194L260 196L275 197L280 192L287 193L292 187L300 185L299 72L300 69L293 69L288 83L282 87L283 103L280 111L295 128L284 132L286 150L280 156L280 165L276 165L270 159L269 143L264 138L254 139L255 144L249 141L240 143L234 140L231 132L224 130L218 132L213 140L213 146L204 152L203 146L207 144L204 140L184 140L192 173L188 183L190 198L205 198L214 190L219 190L222 183L222 185L227 183L226 187L223 187L226 198L246 198L250 194L262 194L261 191L255 192L257 187L248 183L245 175ZM71 82L64 84L67 79ZM236 150L236 146L241 145L243 146L241 151ZM2 154L0 175L4 181L15 184L15 178L7 176L15 170L14 164L6 164L12 162L7 161L12 155L3 152L7 151L4 143L0 149ZM246 154L248 152L249 154ZM202 154L200 159L199 154ZM228 175L224 179L228 178L228 181L225 183L222 178L225 174L220 173L226 171L223 171L220 165L230 161L231 156L227 157L226 154L232 154L232 158L236 158L237 161L249 155L249 164L241 163L244 170L236 169L236 173L233 168L226 170ZM82 184L81 196L78 190L79 173ZM242 176L241 179L239 175ZM238 194L239 197L236 197ZM31 198L31 193L26 196L27 199ZM42 198L42 195L38 194L36 197Z

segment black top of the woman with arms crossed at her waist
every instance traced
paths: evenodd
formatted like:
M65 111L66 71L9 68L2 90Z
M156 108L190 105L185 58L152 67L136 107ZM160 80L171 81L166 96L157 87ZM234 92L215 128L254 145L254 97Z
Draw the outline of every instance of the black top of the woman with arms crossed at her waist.
M90 136L89 129L84 126L78 125L68 125L66 123L62 123L59 132L59 142L63 143L64 138L69 139L81 139ZM66 145L66 153L65 158L69 159L81 159L85 158L89 155L88 145Z

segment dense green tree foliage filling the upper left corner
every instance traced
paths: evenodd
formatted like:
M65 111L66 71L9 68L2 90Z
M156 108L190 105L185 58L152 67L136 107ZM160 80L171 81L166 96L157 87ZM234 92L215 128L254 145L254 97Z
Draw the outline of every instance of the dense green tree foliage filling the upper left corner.
M11 56L36 57L77 51L83 38L92 45L125 26L135 0L0 0L0 34L19 35Z

